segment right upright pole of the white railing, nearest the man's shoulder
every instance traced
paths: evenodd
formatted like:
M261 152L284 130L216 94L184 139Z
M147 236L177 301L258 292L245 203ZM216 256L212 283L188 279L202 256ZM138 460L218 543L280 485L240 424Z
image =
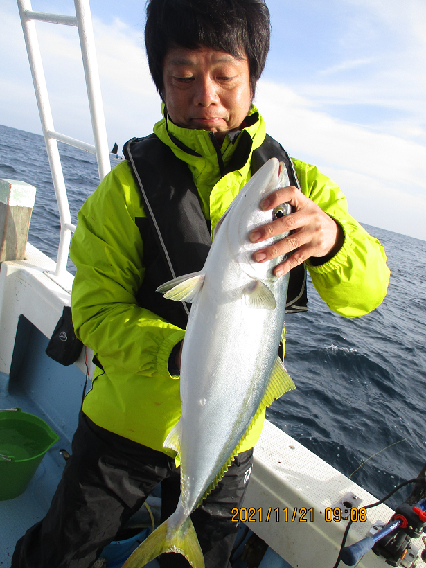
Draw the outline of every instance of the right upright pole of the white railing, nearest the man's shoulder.
M100 181L111 170L89 0L74 0Z

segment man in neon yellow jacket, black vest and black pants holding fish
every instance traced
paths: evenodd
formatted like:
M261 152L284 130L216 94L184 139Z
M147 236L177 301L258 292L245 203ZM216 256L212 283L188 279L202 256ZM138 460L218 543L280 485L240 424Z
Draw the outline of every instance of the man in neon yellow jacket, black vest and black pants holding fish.
M71 246L77 267L73 323L96 353L98 369L51 509L18 542L12 568L92 566L160 482L163 519L174 511L179 470L163 441L180 415L188 312L155 290L202 268L218 220L269 157L285 161L292 186L276 190L261 206L290 202L294 212L249 238L261 242L292 229L256 253L265 262L292 252L275 269L277 276L292 270L287 305L305 309L303 262L339 314L365 314L387 290L380 243L350 218L330 179L291 161L266 136L252 105L269 49L263 0L150 0L147 12L145 44L163 119L154 134L125 145L127 161L80 211ZM242 503L263 418L191 515L206 567L229 565L237 530L231 508ZM160 562L188 566L173 553Z

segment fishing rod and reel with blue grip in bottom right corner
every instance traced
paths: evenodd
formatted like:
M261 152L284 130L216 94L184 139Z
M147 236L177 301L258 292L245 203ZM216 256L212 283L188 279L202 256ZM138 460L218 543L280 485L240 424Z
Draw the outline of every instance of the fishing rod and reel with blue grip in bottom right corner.
M407 564L408 558L405 559L405 556L411 547L411 538L419 538L426 527L426 463L418 477L400 483L388 495L382 497L380 501L367 505L364 508L372 508L384 503L389 497L409 483L415 483L414 489L405 502L396 508L389 522L382 526L377 533L368 535L359 542L345 547L346 538L352 524L352 521L348 522L341 542L339 556L333 568L337 568L340 561L347 566L354 566L371 549L378 556L383 556L389 565L399 566L405 560L402 564L404 567L410 568L414 566L418 549L415 549L415 555L412 554L416 558L413 558L409 564ZM426 537L423 538L423 542L426 547ZM426 562L426 548L422 551L421 558Z

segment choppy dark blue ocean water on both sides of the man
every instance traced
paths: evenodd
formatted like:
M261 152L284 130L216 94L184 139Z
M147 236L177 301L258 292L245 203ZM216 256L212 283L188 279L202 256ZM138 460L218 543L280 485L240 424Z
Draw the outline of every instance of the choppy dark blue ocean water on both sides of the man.
M98 185L96 159L58 145L76 223ZM0 125L0 177L37 188L28 240L55 258L60 223L42 136ZM308 279L308 312L286 318L285 363L296 390L274 402L267 418L382 497L426 461L426 241L364 227L386 249L387 297L371 314L347 319L328 309Z

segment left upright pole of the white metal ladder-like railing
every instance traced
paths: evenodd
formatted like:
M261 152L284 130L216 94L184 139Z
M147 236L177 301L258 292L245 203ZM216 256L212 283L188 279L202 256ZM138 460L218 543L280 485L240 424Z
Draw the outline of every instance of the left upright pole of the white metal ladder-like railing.
M71 215L69 213L68 198L66 197L64 175L57 150L57 142L48 136L48 131L55 131L55 128L53 127L51 105L48 99L46 79L44 77L42 56L40 54L35 23L34 21L28 20L26 17L26 11L32 11L31 3L30 0L17 0L17 3L19 15L21 16L22 29L24 30L26 50L30 62L31 75L33 76L35 96L42 121L44 141L46 142L48 161L51 166L53 186L55 188L57 207L60 215L61 233L55 272L55 274L59 275L66 270L69 245L71 242L71 231L66 226L71 225Z

